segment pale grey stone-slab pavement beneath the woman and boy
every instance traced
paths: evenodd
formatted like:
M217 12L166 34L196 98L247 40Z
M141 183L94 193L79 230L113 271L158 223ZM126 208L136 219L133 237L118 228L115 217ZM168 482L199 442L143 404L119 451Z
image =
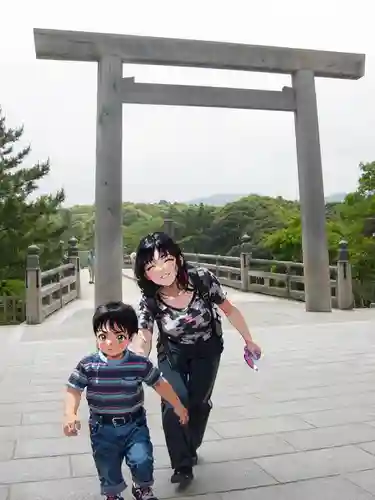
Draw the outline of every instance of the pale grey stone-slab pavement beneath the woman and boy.
M63 385L94 346L93 287L83 293L42 325L0 329L0 500L100 499L87 425L76 438L61 430ZM169 483L158 397L146 389L160 498L375 498L375 310L308 314L300 303L228 293L264 348L260 371L245 365L226 323L214 410L182 494ZM124 279L124 300L137 296Z

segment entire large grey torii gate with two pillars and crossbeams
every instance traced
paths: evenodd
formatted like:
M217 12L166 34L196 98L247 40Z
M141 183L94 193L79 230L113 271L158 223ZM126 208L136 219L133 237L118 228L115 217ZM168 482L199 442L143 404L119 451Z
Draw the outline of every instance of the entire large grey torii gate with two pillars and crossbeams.
M365 56L282 47L34 29L38 59L98 63L96 305L122 296L122 103L293 111L306 310L331 311L315 77L359 79ZM136 83L123 63L283 73L282 91Z

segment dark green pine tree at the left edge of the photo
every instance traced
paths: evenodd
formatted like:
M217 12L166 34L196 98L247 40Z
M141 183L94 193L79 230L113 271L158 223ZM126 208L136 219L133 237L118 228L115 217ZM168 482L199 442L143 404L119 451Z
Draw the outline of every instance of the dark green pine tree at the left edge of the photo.
M24 279L27 247L41 247L42 267L59 261L59 241L66 225L60 209L64 191L35 198L38 181L50 172L48 161L22 166L30 146L16 150L21 128L7 128L0 109L0 279ZM31 199L34 195L34 199Z

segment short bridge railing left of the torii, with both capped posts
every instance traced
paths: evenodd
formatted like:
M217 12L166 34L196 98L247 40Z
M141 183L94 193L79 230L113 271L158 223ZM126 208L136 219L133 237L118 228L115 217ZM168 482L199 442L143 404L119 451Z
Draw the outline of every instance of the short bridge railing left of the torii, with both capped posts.
M36 245L28 248L26 263L26 323L42 323L55 311L81 296L78 242L69 240L68 260L54 269L42 271L40 249Z

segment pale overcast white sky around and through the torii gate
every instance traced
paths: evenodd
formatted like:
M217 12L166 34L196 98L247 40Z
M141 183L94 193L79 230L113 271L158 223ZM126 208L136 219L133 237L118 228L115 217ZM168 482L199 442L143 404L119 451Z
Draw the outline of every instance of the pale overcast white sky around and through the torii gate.
M5 5L4 5L5 4ZM0 9L0 105L25 126L43 192L94 199L96 64L36 60L33 28L151 35L366 54L358 81L317 81L325 193L354 190L375 160L372 0L18 0ZM124 65L137 81L281 90L282 75ZM291 113L124 105L124 201L214 193L298 197Z

